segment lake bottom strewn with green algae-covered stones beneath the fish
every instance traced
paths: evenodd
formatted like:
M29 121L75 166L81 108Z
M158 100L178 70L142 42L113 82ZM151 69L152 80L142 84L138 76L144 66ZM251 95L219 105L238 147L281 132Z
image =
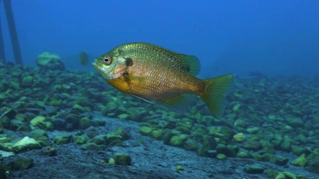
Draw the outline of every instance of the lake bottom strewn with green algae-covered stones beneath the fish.
M224 117L0 62L0 179L319 179L319 77L238 77Z

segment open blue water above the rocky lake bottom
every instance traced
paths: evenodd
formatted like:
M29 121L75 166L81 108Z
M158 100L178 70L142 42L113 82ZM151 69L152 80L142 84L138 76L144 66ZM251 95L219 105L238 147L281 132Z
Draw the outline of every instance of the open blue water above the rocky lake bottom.
M1 0L0 0L1 1ZM319 75L318 0L12 0L26 66L42 52L81 67L80 51L93 59L143 41L196 55L200 76ZM14 61L3 2L5 54Z

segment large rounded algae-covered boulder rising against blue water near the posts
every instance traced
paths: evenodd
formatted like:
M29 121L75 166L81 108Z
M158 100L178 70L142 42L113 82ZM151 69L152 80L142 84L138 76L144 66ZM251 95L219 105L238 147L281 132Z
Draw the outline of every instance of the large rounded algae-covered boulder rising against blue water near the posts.
M57 54L51 54L48 52L44 52L37 56L36 58L37 66L43 69L51 69L51 70L64 70L64 64L61 60L61 57Z

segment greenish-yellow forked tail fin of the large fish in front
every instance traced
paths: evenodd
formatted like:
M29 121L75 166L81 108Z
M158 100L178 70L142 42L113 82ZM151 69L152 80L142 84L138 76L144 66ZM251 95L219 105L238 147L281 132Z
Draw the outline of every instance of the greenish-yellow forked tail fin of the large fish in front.
M235 74L223 75L204 80L207 84L200 98L206 103L213 116L220 119L225 110L225 96L235 81Z

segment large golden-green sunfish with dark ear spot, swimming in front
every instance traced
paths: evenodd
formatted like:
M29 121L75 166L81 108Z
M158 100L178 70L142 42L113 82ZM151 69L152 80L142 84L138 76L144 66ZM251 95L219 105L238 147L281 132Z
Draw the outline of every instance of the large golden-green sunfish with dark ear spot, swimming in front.
M196 78L200 71L196 56L145 42L119 45L96 58L92 65L115 89L158 102L177 113L187 112L189 95L198 95L217 119L223 116L225 96L235 81L235 74Z

